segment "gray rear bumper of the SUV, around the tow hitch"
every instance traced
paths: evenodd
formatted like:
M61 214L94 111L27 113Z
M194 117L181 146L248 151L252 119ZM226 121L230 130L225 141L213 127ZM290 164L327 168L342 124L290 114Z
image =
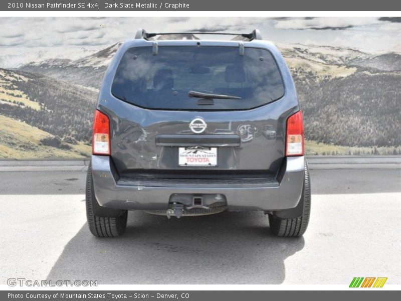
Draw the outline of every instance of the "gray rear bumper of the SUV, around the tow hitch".
M126 181L119 179L107 156L92 156L92 177L96 199L107 208L167 210L172 194L223 194L230 211L282 210L294 208L301 198L304 157L288 157L273 181L240 183L222 181Z

